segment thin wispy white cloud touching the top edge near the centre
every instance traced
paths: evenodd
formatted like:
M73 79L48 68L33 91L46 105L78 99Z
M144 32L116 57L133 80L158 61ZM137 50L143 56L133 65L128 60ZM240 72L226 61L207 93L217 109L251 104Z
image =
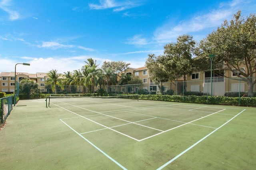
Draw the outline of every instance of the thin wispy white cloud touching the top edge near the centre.
M100 4L89 4L89 7L93 10L104 10L108 8L113 8L114 12L119 12L141 5L142 3L140 0L127 0L124 2L119 2L117 0L100 0Z

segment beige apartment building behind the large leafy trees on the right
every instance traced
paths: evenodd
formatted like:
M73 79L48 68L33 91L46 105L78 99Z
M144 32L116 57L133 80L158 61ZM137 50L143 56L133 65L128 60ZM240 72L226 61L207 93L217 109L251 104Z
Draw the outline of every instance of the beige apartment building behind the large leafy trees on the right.
M244 66L241 66L241 70L246 71ZM186 75L186 82L184 77L178 79L177 84L172 81L155 83L150 80L150 74L146 67L141 68L127 68L124 73L132 74L133 76L139 76L143 80L143 86L140 89L146 89L148 91L160 91L160 86L164 87L164 91L178 90L176 94L182 94L184 90L191 92L203 92L213 96L224 96L226 92L248 92L248 84L238 78L238 70L234 69L234 72L230 70L206 70L203 72L193 72L191 75ZM212 77L212 81L211 81ZM225 78L228 77L228 78ZM253 74L256 79L256 73ZM176 89L177 86L177 89ZM253 89L256 92L256 86Z

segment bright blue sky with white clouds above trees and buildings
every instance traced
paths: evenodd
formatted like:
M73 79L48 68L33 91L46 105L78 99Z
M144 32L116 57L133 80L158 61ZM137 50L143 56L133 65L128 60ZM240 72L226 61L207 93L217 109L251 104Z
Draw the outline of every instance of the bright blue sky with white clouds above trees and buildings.
M145 64L167 43L196 41L238 10L256 13L256 0L0 0L0 72L58 73L92 58Z

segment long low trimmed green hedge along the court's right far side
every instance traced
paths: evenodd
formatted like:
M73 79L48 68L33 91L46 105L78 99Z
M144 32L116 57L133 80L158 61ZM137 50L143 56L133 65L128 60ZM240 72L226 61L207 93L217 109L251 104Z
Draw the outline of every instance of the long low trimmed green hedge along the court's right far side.
M198 104L220 104L220 105L239 105L238 97L226 96L177 96L177 95L139 95L141 100L159 100L167 102L184 102L184 103L198 103ZM241 97L240 106L256 106L256 98Z

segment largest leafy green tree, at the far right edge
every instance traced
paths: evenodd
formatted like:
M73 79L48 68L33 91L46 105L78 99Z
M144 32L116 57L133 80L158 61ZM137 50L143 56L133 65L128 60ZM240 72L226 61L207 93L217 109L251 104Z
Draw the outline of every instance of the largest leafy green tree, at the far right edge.
M256 15L244 19L238 11L229 22L227 20L200 41L195 58L197 68L206 70L210 65L210 54L215 54L213 65L231 71L248 84L248 96L253 96L256 78ZM206 64L206 62L208 62ZM241 68L244 65L244 68ZM226 76L226 75L224 75ZM228 76L226 76L228 77Z

